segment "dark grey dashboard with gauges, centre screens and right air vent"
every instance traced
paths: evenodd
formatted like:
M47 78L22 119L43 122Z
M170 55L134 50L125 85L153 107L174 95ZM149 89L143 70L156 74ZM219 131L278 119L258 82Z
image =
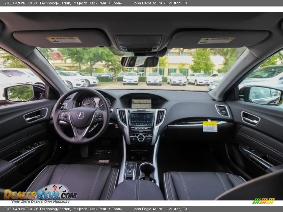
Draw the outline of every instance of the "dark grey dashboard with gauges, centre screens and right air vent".
M214 101L207 92L96 90L106 98L107 106L111 108L110 123L119 126L128 144L154 145L162 131L202 127L202 121L221 121L221 126L233 121L228 105ZM73 94L64 103L72 108L105 108L100 98L89 92ZM228 116L221 115L218 106L226 108Z

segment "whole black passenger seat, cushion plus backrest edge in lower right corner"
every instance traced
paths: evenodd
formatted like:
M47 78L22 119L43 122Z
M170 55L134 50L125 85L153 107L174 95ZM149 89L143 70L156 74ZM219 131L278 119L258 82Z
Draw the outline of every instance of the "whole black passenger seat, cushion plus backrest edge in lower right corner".
M164 189L167 200L283 200L283 169L248 182L222 172L167 172Z

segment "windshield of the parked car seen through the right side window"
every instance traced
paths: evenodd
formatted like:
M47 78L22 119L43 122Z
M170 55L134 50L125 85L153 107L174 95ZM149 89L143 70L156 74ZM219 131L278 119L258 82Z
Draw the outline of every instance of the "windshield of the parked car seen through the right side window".
M275 77L283 72L283 66L269 66L254 70L248 77L249 78L270 78Z

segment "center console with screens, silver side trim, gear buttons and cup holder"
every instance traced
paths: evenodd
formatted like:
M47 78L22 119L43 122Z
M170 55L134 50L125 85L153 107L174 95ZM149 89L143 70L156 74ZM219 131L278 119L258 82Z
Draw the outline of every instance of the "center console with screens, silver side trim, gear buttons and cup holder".
M135 101L132 108L117 109L120 126L124 130L124 159L119 182L147 180L159 185L157 172L157 148L159 126L166 110L148 108L147 101Z

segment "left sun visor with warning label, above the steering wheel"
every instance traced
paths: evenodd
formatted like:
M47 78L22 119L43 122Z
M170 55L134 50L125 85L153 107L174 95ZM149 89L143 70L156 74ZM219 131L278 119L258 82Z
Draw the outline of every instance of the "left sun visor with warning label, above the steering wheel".
M52 30L14 32L14 37L32 47L110 47L106 34L100 30Z

